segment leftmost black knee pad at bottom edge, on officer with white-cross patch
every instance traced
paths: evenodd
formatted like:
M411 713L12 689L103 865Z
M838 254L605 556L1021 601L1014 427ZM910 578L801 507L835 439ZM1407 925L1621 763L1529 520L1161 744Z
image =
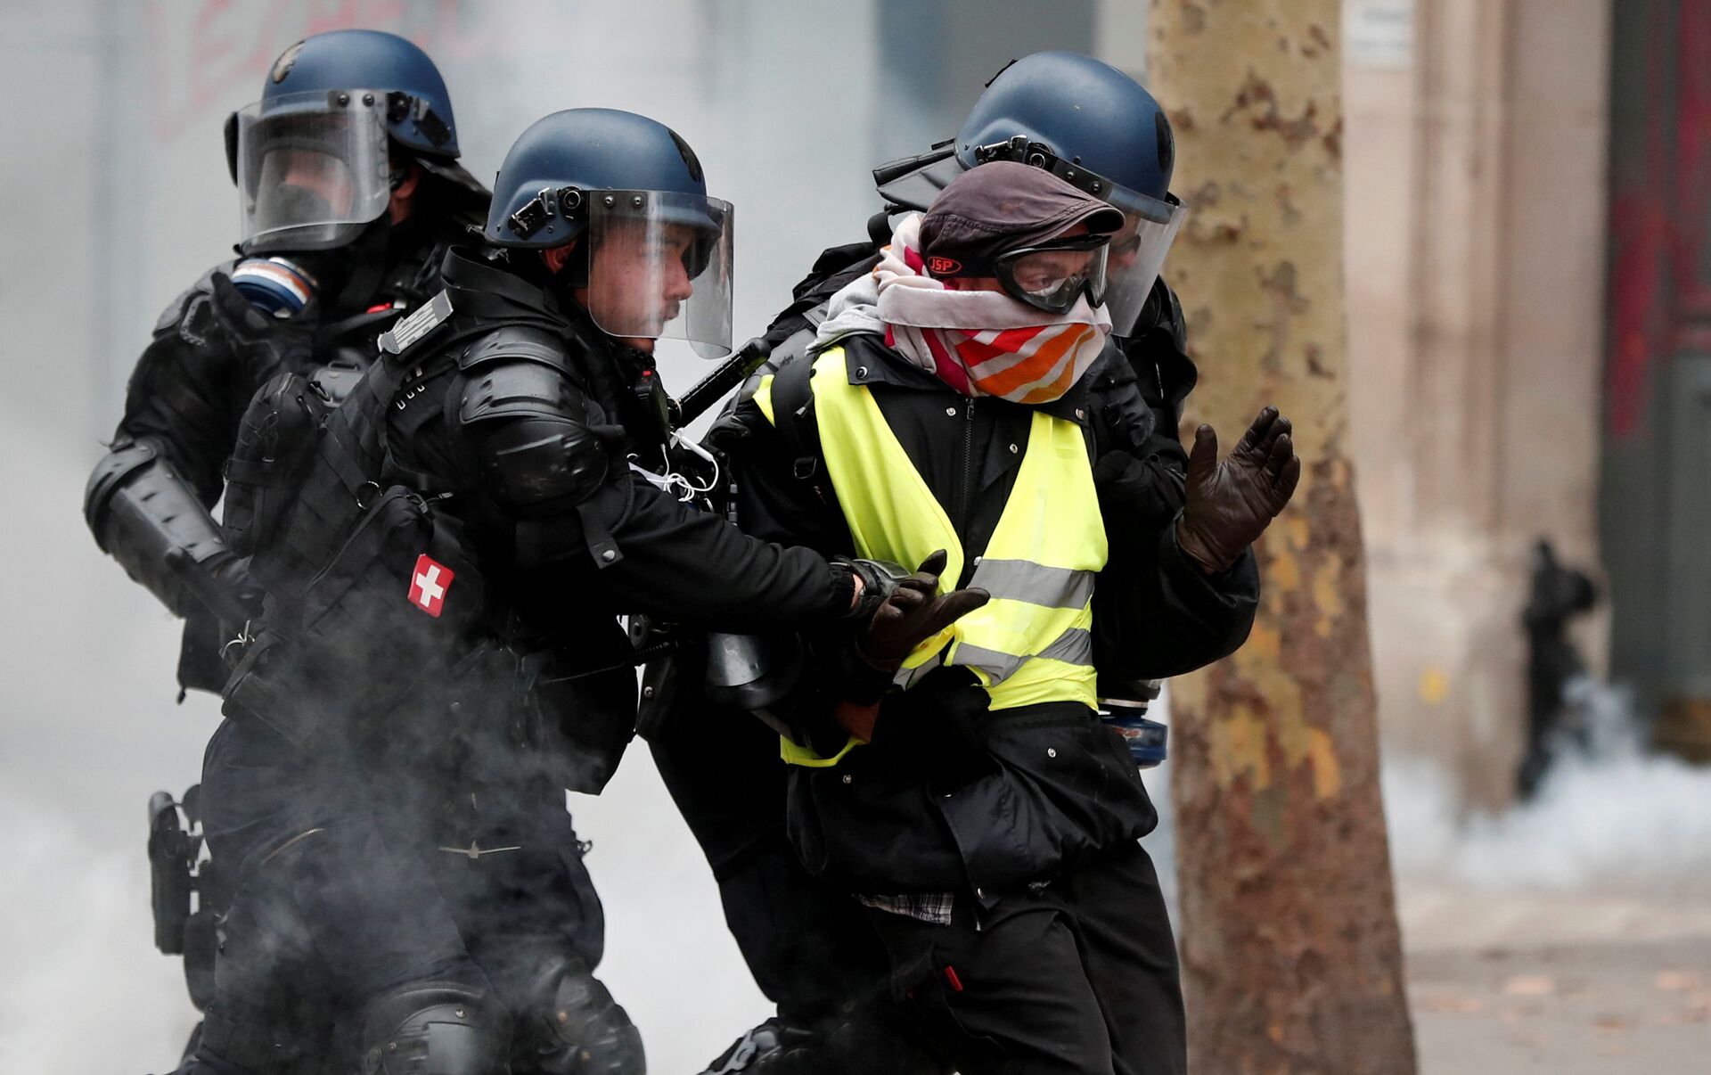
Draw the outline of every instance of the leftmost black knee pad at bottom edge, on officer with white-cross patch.
M510 1015L462 983L407 983L368 1001L363 1075L506 1075Z

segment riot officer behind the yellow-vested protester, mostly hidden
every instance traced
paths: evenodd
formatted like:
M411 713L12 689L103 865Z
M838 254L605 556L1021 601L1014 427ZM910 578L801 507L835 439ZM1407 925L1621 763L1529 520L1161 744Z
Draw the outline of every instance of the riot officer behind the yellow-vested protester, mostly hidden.
M773 344L767 366L779 368L806 351L832 294L873 272L879 246L890 241L890 217L929 209L951 180L989 161L1044 168L1124 214L1107 257L1110 342L1086 383L1100 442L1138 460L1121 478L1133 491L1124 524L1163 527L1182 508L1187 454L1177 426L1196 370L1186 354L1181 306L1158 270L1186 209L1170 193L1175 151L1163 110L1145 87L1098 60L1045 51L1013 62L987 84L955 139L876 168L886 205L869 223L871 238L820 255L797 284L796 301L767 332ZM710 443L731 447L724 438L744 435L739 423L722 419ZM1100 466L1110 471L1116 464ZM1157 685L1104 671L1117 664L1109 657L1119 638L1095 638L1095 645L1102 697L1145 710ZM1158 657L1158 664L1174 664L1172 654ZM660 728L652 750L708 856L737 945L779 1007L708 1072L794 1072L802 1065L903 1070L895 1056L874 1060L883 1049L907 1051L905 1029L883 1003L886 969L876 938L847 900L801 870L784 840L779 803L785 767L768 748L772 733L739 714L710 721L695 712L698 705L705 709L707 700L681 693L672 714L650 719ZM708 763L712 757L720 762ZM789 926L780 929L780 921Z

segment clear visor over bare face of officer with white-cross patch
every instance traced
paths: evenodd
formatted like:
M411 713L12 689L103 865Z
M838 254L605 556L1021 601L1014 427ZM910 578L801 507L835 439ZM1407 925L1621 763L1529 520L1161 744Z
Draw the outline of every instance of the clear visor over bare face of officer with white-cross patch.
M583 305L607 336L683 339L731 353L731 202L659 190L592 190Z

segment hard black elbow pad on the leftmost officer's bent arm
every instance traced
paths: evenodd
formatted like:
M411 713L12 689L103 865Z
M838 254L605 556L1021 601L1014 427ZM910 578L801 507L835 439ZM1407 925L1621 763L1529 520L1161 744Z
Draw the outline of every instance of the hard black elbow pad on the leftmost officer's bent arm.
M190 483L147 443L116 445L96 464L84 519L101 551L180 616L205 604L193 575L231 558Z

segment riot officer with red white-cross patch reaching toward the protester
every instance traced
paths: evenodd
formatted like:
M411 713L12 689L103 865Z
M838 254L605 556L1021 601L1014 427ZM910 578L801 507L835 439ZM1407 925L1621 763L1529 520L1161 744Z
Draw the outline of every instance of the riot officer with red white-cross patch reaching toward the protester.
M265 608L204 765L210 846L245 876L198 1053L216 1070L642 1072L592 976L602 918L563 805L633 734L616 616L891 649L984 603L688 503L705 479L652 351L729 347L731 223L667 127L539 120L484 241L447 253L313 450L275 452L303 464L258 514ZM298 401L263 392L246 423ZM327 996L352 1015L317 1024Z

